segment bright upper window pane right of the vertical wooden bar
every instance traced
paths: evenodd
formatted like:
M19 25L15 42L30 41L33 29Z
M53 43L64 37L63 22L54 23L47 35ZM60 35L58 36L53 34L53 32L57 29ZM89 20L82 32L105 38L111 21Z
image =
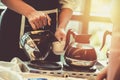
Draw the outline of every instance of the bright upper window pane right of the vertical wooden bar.
M90 15L110 17L110 5L111 0L91 0Z

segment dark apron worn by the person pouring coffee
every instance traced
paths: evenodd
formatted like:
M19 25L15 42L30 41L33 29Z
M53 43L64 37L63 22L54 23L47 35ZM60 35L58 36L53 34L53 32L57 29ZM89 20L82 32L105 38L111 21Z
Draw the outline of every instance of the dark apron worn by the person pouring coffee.
M31 5L37 10L51 10L59 7L58 0L24 0L26 3ZM45 27L53 33L56 31L56 14L49 15L52 19L51 26ZM27 26L25 32L31 31L32 28L28 23L27 19L25 22ZM13 57L19 57L20 59L26 61L29 58L26 56L24 51L19 47L19 37L20 37L20 26L21 26L21 15L18 13L6 9L2 16L2 21L0 25L0 60L10 61ZM56 56L51 51L51 54L46 58L48 61L59 61L60 56Z

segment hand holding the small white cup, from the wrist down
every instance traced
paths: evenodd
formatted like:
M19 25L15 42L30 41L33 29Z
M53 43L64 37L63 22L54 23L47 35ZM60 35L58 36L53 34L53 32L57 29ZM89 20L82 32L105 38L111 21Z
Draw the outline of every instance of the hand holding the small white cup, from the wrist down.
M66 40L66 32L64 28L60 28L58 27L56 32L55 32L55 37L59 40L59 41L65 41Z

